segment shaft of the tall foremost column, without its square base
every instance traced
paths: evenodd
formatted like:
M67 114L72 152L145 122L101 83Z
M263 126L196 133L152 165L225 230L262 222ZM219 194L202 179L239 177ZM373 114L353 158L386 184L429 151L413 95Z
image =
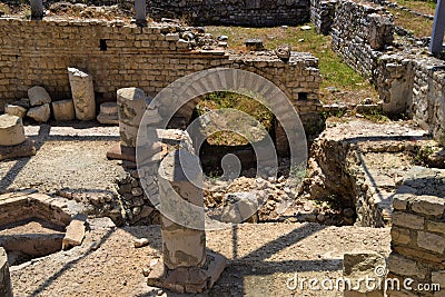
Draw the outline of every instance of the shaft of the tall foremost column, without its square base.
M206 263L202 174L199 158L185 149L159 168L164 265L170 270Z

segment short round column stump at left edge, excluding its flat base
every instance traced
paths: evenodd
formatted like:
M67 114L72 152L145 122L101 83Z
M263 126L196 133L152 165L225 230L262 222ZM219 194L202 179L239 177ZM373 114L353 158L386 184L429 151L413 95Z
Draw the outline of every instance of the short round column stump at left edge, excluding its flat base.
M0 116L0 146L16 146L24 141L21 118L10 115Z

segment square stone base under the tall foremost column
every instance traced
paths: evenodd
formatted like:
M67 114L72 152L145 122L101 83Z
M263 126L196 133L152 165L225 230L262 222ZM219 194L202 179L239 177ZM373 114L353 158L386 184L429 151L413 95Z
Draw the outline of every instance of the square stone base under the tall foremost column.
M177 293L202 293L209 290L226 268L224 256L207 251L202 267L179 267L170 270L160 260L150 267L147 284Z

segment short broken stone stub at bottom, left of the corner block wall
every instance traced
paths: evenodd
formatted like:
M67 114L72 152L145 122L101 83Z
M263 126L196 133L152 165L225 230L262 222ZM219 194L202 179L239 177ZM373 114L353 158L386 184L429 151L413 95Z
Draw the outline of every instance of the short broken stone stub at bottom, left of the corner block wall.
M343 276L350 280L345 284L345 297L383 297L386 276L385 257L375 251L348 253L344 255Z

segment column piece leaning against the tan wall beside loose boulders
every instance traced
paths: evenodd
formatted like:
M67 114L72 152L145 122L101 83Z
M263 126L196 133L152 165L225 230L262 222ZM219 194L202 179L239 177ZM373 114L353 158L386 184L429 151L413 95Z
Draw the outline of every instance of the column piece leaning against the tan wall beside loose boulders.
M92 77L76 68L68 68L72 101L78 120L96 119L96 100Z

